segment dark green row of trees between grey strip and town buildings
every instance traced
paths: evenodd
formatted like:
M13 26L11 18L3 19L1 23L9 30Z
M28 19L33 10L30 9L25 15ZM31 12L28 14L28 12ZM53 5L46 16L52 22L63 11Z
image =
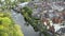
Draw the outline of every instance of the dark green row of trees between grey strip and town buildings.
M39 31L40 33L43 33L44 36L50 36L47 26L42 24L40 18L35 18L31 16L32 11L30 7L28 6L23 7L21 14L24 16L24 19L27 22L27 24L30 24L36 32Z

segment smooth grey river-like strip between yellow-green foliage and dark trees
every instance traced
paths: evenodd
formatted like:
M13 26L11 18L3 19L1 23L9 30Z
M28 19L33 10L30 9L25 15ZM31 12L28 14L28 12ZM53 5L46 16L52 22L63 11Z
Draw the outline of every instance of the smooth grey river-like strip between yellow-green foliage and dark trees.
M12 18L15 21L15 23L20 24L22 26L22 31L25 36L39 36L38 32L35 32L31 25L26 26L24 23L24 18L21 14L16 14L15 12L11 12Z

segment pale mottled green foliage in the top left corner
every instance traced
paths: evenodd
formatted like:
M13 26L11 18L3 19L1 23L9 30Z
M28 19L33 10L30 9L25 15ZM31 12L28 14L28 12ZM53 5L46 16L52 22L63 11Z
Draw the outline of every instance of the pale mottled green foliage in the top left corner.
M17 6L17 4L28 1L30 0L0 0L0 11L11 10L12 7Z

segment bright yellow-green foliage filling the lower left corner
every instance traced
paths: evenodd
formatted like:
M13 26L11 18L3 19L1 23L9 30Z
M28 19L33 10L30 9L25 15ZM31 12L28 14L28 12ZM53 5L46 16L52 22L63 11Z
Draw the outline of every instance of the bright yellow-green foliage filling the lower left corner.
M15 24L9 13L0 13L0 36L24 36L18 24Z

